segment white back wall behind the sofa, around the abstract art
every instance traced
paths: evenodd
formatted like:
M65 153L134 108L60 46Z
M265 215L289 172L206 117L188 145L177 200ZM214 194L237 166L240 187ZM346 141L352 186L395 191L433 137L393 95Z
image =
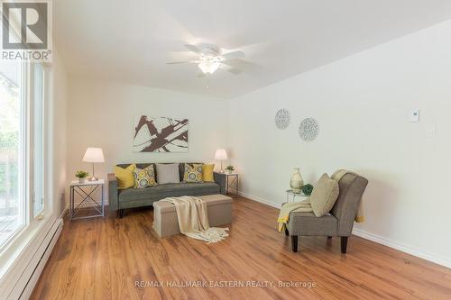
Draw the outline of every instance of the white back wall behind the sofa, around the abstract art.
M68 177L78 169L91 172L81 159L87 147L101 147L106 162L97 177L106 178L118 163L213 161L216 148L226 146L226 102L145 86L70 77L68 115ZM133 152L135 115L189 119L189 152Z

